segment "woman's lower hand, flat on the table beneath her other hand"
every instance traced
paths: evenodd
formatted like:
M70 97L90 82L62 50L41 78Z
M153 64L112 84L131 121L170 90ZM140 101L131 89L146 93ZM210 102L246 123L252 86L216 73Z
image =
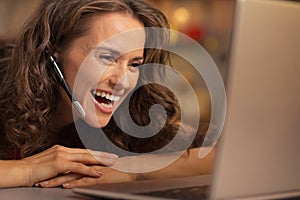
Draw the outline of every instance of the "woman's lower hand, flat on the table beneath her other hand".
M64 188L83 187L97 185L103 183L130 182L137 180L137 174L121 172L110 167L91 166L94 170L100 172L100 177L83 176L75 173L68 173L59 177L55 177L48 181L42 182L41 187L57 187Z

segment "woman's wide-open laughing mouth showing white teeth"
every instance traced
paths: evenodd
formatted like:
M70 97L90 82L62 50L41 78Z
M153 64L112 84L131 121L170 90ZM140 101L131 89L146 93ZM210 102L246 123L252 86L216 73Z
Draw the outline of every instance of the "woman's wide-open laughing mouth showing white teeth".
M104 108L112 108L113 104L120 100L120 96L115 96L99 90L92 90L91 93L94 99Z

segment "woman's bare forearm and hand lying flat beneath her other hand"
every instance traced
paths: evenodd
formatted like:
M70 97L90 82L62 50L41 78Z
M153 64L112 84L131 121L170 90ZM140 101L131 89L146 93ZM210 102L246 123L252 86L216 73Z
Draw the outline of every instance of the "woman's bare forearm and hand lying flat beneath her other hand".
M213 149L203 159L198 159L199 150L199 148L191 149L189 155L186 153L171 165L160 170L148 173L126 173L115 170L110 167L94 165L93 169L95 169L98 172L101 172L101 176L92 177L76 173L69 173L63 176L56 177L49 181L42 182L40 186L48 188L62 185L64 188L74 188L104 183L129 182L136 180L159 178L174 178L212 173L215 149ZM147 159L151 158L147 157Z

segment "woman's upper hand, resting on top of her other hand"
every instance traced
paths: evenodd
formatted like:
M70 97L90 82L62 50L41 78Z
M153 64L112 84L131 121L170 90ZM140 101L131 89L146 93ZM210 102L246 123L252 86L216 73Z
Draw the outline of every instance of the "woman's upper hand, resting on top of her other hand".
M55 145L22 160L25 166L24 185L32 186L61 174L100 177L102 174L89 165L111 166L117 156L86 149L72 149Z

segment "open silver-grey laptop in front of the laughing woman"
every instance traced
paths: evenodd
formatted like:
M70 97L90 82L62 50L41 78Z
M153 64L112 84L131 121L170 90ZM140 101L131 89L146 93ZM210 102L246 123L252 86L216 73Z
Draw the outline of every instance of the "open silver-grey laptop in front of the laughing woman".
M191 199L300 198L300 2L237 0L235 6L227 116L213 174L75 193L150 200L171 190L177 196L170 198L180 199L188 188ZM199 196L192 196L195 187L202 188Z

